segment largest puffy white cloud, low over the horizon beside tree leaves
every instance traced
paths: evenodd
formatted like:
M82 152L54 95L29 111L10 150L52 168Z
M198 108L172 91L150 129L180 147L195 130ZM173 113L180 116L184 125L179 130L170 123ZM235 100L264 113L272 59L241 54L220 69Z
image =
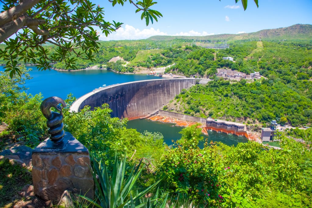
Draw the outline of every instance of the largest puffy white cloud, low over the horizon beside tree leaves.
M105 34L101 34L99 39L102 41L139 40L155 35L167 35L167 33L161 32L159 29L155 30L153 27L150 29L139 30L130 25L125 25L124 27L120 27L115 32L109 34L107 37Z

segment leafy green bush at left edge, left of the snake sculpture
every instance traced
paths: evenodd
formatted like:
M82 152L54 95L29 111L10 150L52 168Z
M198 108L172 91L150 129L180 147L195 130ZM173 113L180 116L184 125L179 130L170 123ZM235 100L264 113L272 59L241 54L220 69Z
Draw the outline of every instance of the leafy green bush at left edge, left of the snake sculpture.
M19 140L26 145L35 147L46 138L46 119L40 111L42 95L26 94L23 84L29 80L28 71L20 67L22 76L9 77L7 72L0 72L0 121L9 125L11 134L20 134Z

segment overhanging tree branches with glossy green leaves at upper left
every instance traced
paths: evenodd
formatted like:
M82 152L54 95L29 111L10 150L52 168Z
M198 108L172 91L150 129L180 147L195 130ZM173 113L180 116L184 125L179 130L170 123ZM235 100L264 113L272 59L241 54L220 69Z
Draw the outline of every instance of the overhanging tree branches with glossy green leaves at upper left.
M127 2L109 1L113 6ZM146 25L162 17L160 12L150 9L156 3L153 0L128 2L136 8L135 12L142 11L141 19L146 19ZM0 43L7 46L0 50L0 56L7 60L6 70L11 72L11 77L16 72L20 74L17 60L31 61L41 70L50 69L51 63L64 60L66 69L75 69L77 58L94 59L94 52L99 48L99 33L94 26L107 36L122 25L121 22L105 21L104 8L89 0L9 0L2 3ZM14 33L16 37L8 39ZM51 53L42 47L45 43L57 46L56 51ZM71 53L76 57L71 57Z

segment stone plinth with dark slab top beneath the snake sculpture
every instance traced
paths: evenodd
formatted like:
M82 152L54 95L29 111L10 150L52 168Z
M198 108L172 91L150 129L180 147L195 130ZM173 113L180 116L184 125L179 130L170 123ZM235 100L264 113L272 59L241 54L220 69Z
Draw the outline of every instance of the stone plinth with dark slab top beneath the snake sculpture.
M42 199L57 200L65 190L94 198L94 181L88 149L66 132L63 149L48 148L49 138L32 152L34 193ZM44 147L44 148L42 148Z

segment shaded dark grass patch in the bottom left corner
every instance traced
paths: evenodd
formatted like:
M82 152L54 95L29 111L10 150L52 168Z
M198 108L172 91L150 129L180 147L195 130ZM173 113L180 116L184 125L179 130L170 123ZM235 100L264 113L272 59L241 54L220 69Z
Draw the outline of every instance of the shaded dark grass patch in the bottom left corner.
M22 187L32 184L32 175L26 168L9 160L0 160L0 207L12 207L12 197L21 191Z

